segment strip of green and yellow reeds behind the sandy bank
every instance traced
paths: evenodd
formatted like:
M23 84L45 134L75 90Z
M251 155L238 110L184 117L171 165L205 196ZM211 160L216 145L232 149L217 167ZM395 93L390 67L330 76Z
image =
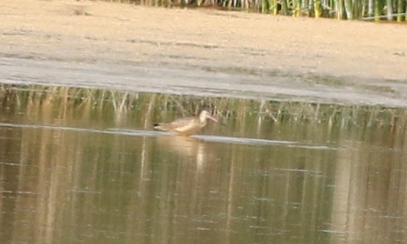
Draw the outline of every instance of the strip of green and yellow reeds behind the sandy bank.
M107 0L152 6L212 7L265 14L406 21L406 0Z

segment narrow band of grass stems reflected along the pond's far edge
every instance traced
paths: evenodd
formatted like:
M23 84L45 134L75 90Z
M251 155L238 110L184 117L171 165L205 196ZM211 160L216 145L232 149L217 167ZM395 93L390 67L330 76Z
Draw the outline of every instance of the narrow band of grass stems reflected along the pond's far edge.
M196 115L207 109L224 121L233 120L244 124L246 118L258 118L259 122L307 122L329 126L359 124L363 126L390 125L406 122L406 109L367 106L340 106L304 102L275 102L271 100L242 100L180 96L170 94L132 93L105 89L77 87L46 87L40 85L2 85L1 101L18 111L21 107L48 107L52 113L63 116L67 111L80 115L95 111L112 111L114 118L125 113L144 118L149 124L154 114L175 113ZM398 123L400 124L400 123Z

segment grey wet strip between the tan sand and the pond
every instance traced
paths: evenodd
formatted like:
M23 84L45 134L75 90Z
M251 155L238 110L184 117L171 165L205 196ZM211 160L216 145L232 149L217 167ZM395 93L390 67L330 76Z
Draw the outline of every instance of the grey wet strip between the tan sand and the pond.
M97 51L95 51L97 52ZM406 107L407 80L240 67L196 67L47 54L3 55L1 82L224 98ZM1 56L1 54L0 54ZM114 54L112 54L114 56ZM180 57L180 59L185 57ZM56 62L56 60L58 62Z

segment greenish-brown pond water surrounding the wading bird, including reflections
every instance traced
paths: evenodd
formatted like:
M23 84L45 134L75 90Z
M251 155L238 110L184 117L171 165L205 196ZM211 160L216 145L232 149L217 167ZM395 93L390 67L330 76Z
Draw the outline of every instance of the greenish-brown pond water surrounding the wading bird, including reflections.
M406 109L10 86L4 243L404 243ZM208 109L200 135L154 122Z

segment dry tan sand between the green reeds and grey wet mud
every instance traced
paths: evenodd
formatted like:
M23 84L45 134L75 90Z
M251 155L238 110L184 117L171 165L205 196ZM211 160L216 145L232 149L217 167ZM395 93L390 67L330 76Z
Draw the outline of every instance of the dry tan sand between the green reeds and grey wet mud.
M101 1L3 0L1 5L0 52L14 58L10 62L123 64L293 80L326 75L353 77L352 84L392 79L398 85L386 89L397 89L398 95L407 80L407 25ZM29 72L24 67L30 65L21 62L21 70Z

